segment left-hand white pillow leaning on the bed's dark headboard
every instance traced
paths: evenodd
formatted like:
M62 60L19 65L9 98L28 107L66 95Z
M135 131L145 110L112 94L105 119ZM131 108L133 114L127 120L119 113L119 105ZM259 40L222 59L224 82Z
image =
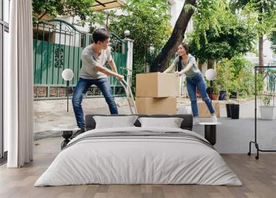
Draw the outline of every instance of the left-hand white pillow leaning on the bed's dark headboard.
M117 128L117 127L135 127L133 125L138 116L93 116L95 129Z

